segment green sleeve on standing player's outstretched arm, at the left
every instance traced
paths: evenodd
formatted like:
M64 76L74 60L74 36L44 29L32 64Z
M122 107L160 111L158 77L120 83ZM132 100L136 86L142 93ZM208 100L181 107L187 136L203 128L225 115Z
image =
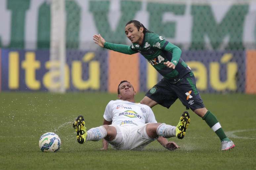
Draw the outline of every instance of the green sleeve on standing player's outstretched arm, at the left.
M114 44L105 42L104 48L130 55L137 53L137 51L132 50L129 45L124 44Z

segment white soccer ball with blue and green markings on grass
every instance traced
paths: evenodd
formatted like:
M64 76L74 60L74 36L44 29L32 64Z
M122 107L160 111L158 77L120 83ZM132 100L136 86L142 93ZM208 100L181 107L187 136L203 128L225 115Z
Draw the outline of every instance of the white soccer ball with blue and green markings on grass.
M47 132L40 137L39 148L42 152L57 152L61 148L61 139L57 134Z

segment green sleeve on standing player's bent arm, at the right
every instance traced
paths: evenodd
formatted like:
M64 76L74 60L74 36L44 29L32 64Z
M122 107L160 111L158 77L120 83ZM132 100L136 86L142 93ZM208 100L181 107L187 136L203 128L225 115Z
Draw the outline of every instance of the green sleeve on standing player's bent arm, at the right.
M170 62L175 66L178 64L181 57L181 49L178 46L166 41L165 38L157 34L152 34L150 40L152 40L153 48L159 48L172 53L172 60Z

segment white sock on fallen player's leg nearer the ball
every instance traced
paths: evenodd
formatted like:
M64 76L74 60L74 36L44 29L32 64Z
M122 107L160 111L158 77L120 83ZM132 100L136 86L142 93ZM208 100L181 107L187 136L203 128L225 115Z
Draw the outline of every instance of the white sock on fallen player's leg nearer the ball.
M104 126L94 127L87 131L87 136L85 141L98 141L107 136L107 130Z

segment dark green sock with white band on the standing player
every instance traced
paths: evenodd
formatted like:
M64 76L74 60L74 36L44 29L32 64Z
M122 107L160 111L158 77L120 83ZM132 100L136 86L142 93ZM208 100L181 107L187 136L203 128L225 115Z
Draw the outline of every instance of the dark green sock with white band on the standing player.
M202 119L218 135L218 137L220 138L221 141L224 141L224 140L230 141L230 139L224 133L217 118L209 110L206 112L206 114L203 116Z

